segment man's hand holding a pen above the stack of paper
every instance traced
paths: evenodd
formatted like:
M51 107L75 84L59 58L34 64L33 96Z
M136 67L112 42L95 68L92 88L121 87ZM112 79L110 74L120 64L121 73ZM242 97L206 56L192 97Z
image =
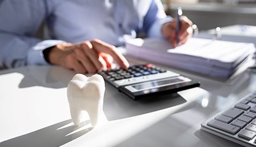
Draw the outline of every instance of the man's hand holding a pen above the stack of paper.
M174 19L172 22L167 22L163 24L163 27L162 27L163 36L172 43L173 47L177 47L179 45L186 43L193 33L193 29L191 27L193 23L191 22L191 20L189 20L188 17L186 16L181 16L180 17L180 33L179 33L180 42L179 44L177 44L176 42L177 36L175 33L176 21L177 20Z

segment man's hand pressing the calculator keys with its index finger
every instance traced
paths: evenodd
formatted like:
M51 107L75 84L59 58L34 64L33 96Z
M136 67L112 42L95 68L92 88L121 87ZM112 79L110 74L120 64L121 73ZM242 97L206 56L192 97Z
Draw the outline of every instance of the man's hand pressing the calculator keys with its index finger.
M49 53L50 63L81 74L111 68L113 59L121 68L129 67L128 61L116 50L116 47L100 40L76 44L61 43Z

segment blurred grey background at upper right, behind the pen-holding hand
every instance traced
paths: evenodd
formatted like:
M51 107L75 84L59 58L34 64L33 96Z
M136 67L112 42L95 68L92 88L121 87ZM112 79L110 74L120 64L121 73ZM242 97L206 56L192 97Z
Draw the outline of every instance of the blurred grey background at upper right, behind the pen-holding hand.
M200 31L235 24L256 26L256 0L162 0L168 15L181 6Z

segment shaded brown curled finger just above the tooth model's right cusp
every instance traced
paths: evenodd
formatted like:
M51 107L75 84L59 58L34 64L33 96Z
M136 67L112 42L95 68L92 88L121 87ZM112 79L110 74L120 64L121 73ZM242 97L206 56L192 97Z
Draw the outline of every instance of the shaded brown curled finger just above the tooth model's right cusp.
M74 49L74 52L76 54L77 60L81 62L81 64L84 66L88 73L97 72L97 69L93 65L92 61L90 60L90 58L88 58L88 56L86 56L86 54L84 54L84 51L83 49L81 49L81 47L78 49Z

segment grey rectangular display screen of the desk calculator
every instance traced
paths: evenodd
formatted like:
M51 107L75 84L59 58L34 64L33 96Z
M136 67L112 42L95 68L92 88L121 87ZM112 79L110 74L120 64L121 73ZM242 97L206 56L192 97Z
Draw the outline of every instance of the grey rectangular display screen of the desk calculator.
M183 81L183 80L179 79L179 78L168 79L168 80L164 80L164 81L152 81L152 82L145 82L142 84L132 85L132 88L135 88L137 90L148 89L148 88L155 88L155 87L159 87L159 86L163 86L163 85L169 85L169 84L173 84L173 83L177 83L177 82L181 82L181 81Z

